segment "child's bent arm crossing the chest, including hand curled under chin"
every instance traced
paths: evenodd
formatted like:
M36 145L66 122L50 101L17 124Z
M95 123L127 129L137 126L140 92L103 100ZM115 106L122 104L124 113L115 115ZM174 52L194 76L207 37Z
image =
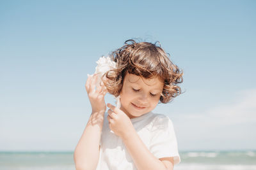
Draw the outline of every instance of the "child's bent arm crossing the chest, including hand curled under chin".
M108 104L108 107L109 128L122 138L138 170L173 170L172 157L157 159L140 139L130 118L112 104Z

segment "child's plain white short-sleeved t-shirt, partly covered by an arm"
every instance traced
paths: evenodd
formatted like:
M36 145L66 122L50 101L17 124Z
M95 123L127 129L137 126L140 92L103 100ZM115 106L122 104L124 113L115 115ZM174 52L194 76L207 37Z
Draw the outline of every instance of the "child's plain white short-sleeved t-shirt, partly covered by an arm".
M122 139L109 129L107 117L106 113L100 139L97 170L137 169ZM177 139L170 118L149 112L141 117L131 118L131 122L143 143L155 157L158 159L173 157L174 164L179 164Z

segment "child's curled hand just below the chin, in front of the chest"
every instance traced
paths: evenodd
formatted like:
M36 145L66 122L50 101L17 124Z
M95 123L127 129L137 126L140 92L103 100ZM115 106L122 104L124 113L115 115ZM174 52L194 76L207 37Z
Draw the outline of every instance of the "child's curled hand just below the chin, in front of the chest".
M127 138L130 132L134 131L131 119L124 113L124 111L116 108L112 104L107 105L109 128L115 132L120 138Z

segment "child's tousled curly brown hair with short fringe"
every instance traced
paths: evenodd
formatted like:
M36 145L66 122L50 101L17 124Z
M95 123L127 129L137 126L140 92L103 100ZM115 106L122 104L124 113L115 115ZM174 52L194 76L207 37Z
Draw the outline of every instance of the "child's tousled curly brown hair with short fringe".
M119 96L127 72L143 78L157 76L163 81L163 92L159 99L161 103L168 103L181 93L178 84L183 81L183 73L157 43L159 42L137 43L134 39L129 39L125 41L124 46L110 54L111 60L116 62L116 69L111 69L102 76L102 81L110 94Z

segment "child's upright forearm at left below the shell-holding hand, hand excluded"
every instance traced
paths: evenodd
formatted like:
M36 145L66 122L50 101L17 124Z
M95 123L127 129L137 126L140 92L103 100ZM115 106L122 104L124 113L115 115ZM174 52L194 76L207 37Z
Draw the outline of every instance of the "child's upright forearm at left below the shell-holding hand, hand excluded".
M96 169L105 111L92 113L74 152L76 169Z

